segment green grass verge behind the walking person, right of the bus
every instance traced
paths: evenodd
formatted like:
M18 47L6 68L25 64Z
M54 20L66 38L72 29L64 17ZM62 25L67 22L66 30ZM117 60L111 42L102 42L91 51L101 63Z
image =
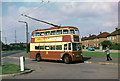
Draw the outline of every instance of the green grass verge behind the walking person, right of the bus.
M118 55L119 54L119 55ZM104 52L89 52L89 51L83 51L83 56L91 56L91 57L106 57L106 54ZM110 53L110 56L112 58L118 58L120 57L120 53Z

